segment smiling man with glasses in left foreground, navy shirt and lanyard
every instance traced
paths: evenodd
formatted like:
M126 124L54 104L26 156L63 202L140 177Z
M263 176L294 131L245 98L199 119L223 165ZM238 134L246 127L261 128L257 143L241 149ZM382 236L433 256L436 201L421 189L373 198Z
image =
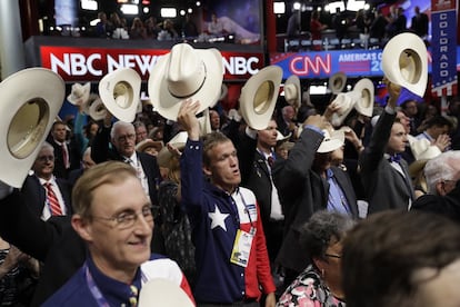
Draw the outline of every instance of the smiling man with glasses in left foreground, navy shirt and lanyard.
M151 255L151 204L134 169L120 162L96 166L77 182L72 198L72 228L89 256L43 306L136 306L139 290L152 278L169 279L192 299L178 265Z

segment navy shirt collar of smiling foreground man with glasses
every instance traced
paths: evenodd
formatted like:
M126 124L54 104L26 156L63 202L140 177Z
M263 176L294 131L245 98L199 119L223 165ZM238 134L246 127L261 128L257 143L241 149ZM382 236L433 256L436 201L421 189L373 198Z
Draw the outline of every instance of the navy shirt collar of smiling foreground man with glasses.
M110 306L130 306L129 297L131 295L130 285L118 281L113 278L108 277L99 268L96 267L91 256L87 257L88 269L91 273L91 276L94 280L94 284L98 286L99 290L110 304ZM139 290L141 289L141 270L140 268L136 273L132 285L134 285Z

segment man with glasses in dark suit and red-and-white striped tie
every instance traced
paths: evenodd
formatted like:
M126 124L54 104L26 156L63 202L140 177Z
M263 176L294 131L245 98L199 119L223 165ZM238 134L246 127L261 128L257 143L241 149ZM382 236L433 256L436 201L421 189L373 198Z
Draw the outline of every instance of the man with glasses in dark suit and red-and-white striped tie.
M66 179L53 175L54 148L49 142L43 142L32 171L21 190L33 214L43 220L52 216L71 215L71 186Z

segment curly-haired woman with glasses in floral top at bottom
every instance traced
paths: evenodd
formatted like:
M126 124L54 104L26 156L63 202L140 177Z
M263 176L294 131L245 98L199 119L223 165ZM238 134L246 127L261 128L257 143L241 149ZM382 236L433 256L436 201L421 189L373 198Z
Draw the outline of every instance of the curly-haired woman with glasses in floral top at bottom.
M346 306L340 268L342 241L353 224L338 212L321 210L311 216L300 234L311 265L286 289L277 306Z

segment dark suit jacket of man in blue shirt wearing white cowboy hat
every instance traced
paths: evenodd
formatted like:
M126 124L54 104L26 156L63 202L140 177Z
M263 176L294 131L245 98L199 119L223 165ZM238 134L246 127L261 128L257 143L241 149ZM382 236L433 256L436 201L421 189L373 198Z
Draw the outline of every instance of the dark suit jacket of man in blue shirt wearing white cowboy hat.
M273 179L286 225L284 240L277 263L299 273L308 265L307 251L299 244L300 229L313 212L326 209L328 205L329 185L311 169L322 139L321 133L303 129L288 159L277 161L273 167ZM348 175L337 167L331 169L350 205L352 216L358 218L357 199Z

